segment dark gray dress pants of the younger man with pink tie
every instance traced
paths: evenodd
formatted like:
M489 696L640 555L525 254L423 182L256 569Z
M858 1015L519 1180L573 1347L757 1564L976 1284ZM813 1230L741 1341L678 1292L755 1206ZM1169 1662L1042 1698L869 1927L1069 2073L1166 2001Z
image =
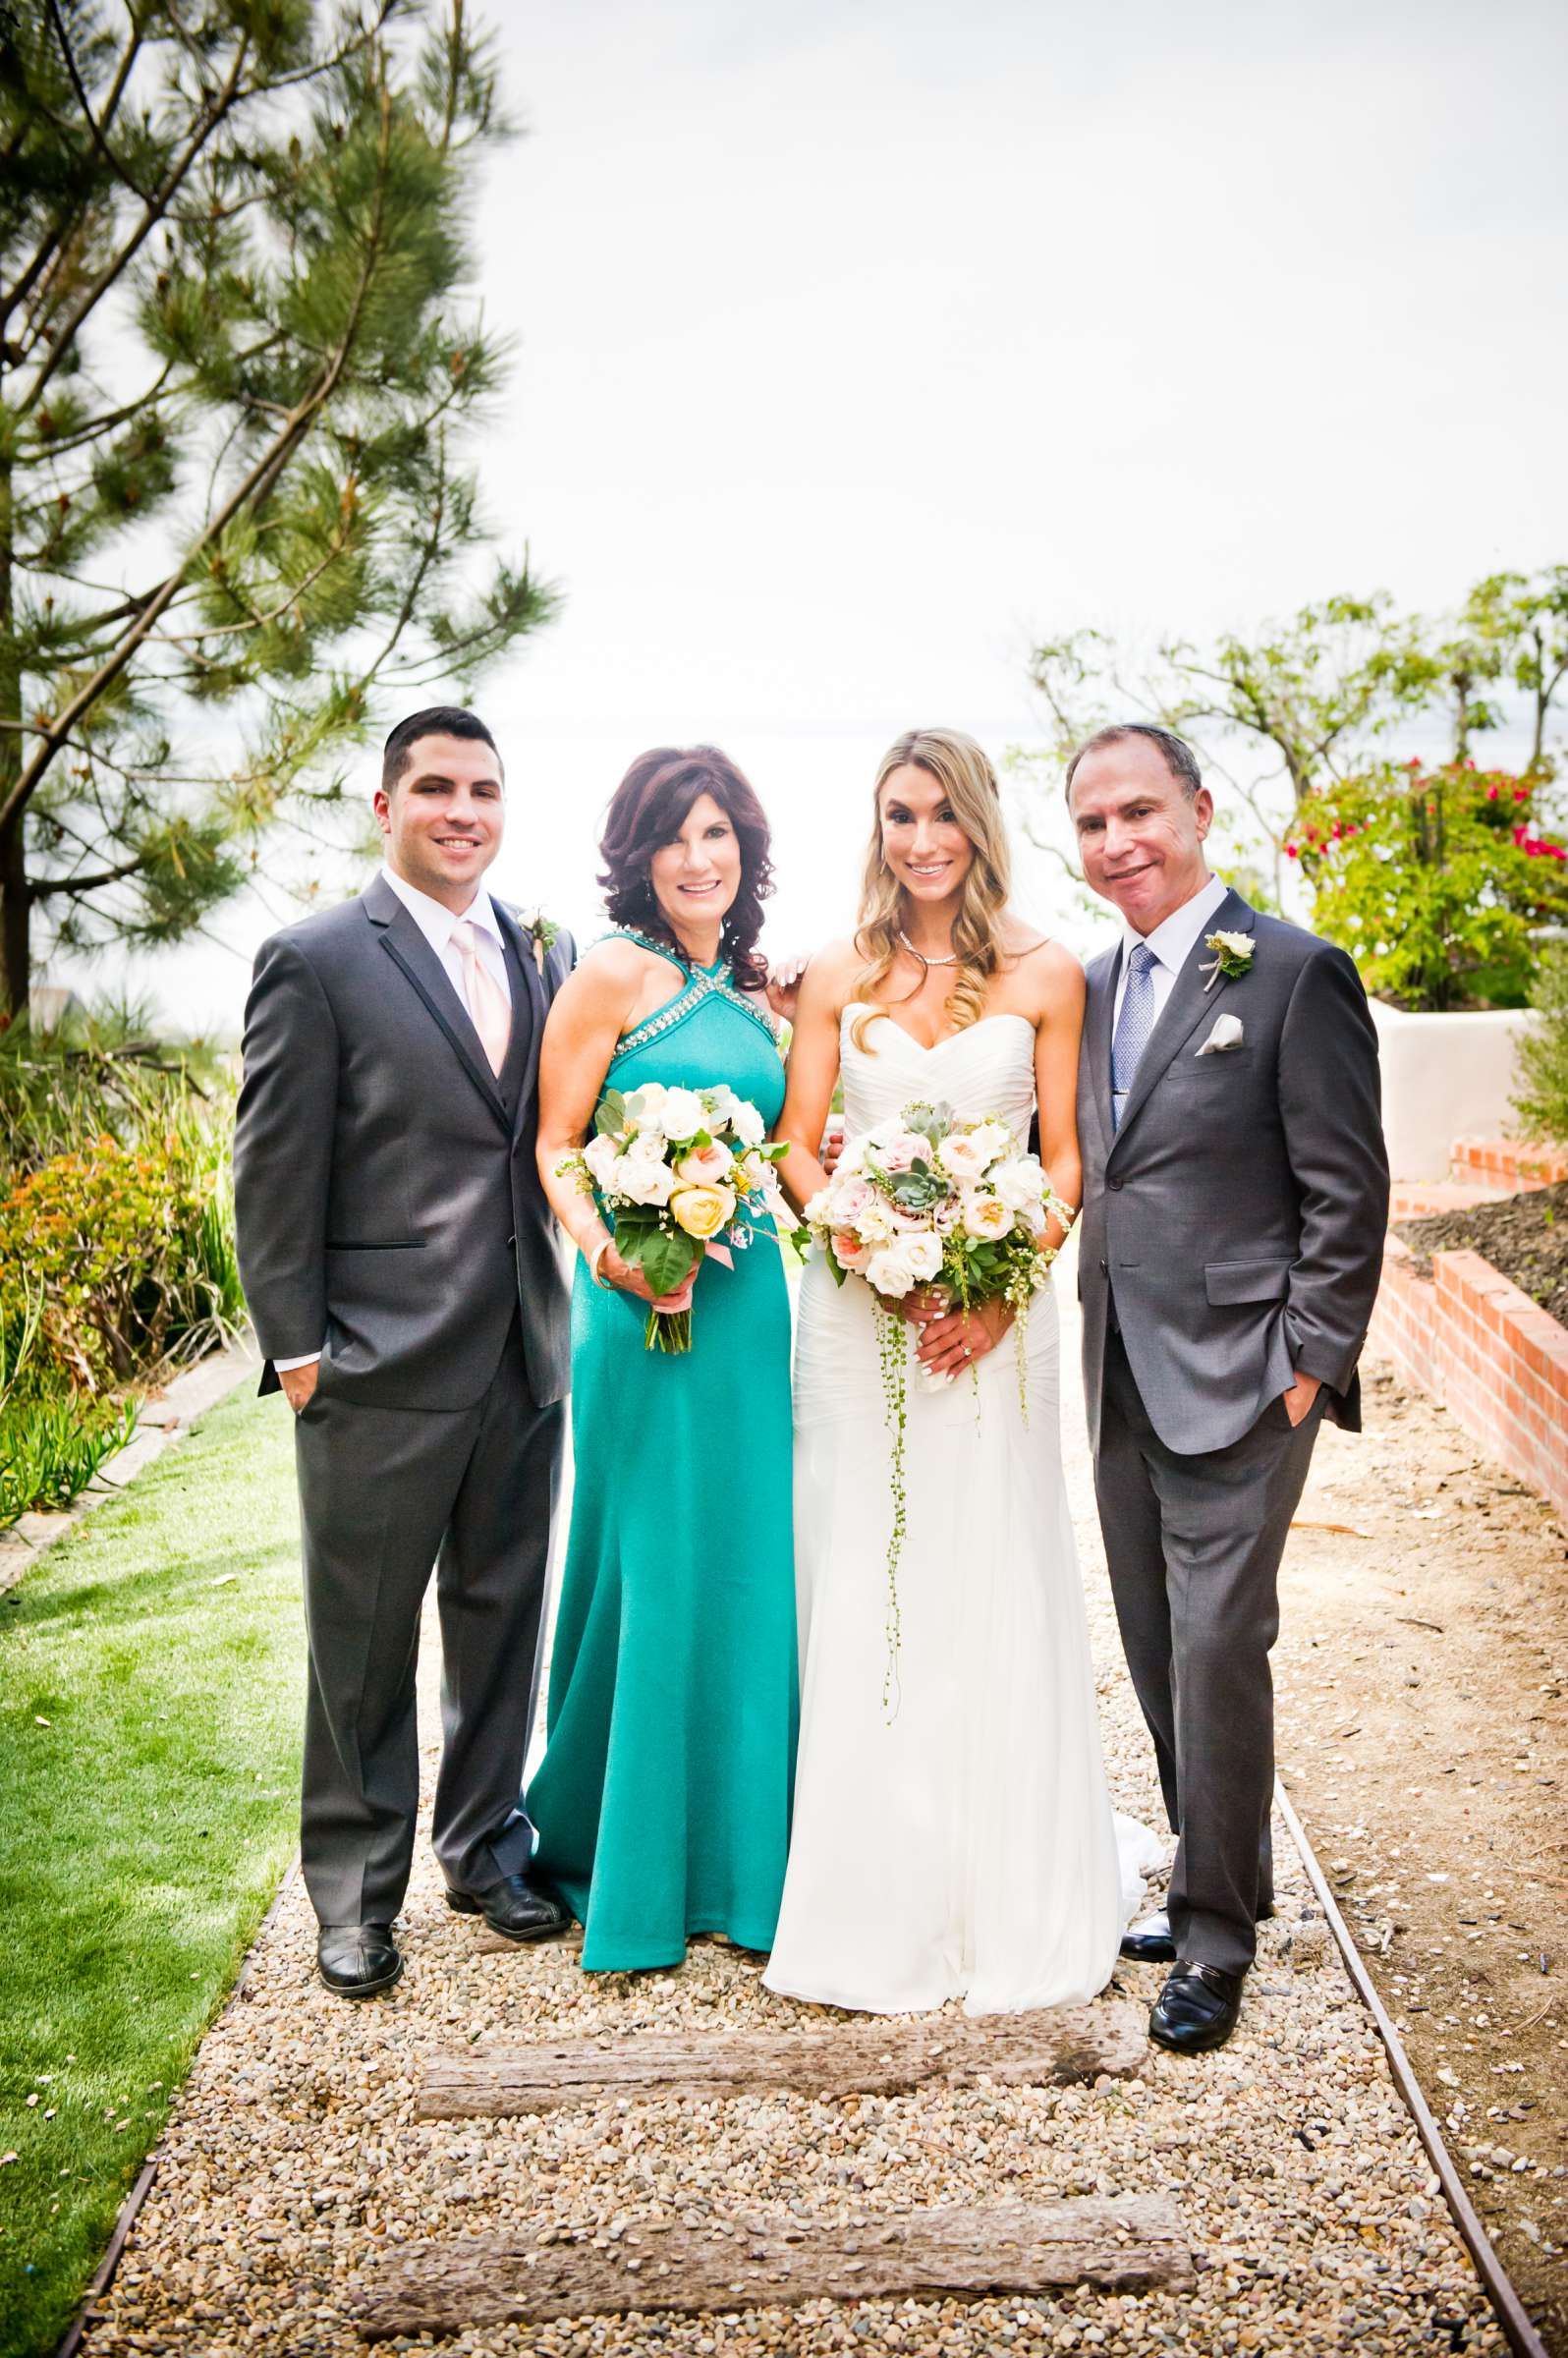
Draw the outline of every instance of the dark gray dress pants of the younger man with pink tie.
M434 1846L460 1891L528 1865L521 1811L564 1405L535 1408L516 1320L455 1412L316 1394L295 1422L309 1688L299 1846L323 1924L389 1924L420 1806L415 1665L436 1573Z

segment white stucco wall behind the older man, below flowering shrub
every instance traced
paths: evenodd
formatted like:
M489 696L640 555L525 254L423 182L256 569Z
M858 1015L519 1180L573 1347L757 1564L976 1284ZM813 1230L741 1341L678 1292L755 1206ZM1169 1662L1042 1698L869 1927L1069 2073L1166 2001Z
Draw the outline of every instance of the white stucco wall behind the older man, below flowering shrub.
M1394 1179L1448 1179L1455 1139L1497 1139L1516 1127L1514 1049L1521 1030L1540 1021L1528 1007L1412 1016L1372 1000L1372 1021Z

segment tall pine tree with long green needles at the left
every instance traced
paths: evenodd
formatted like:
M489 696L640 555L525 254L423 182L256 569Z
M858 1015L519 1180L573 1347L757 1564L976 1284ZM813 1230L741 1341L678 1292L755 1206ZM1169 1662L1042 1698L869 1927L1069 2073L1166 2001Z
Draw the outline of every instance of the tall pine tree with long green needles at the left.
M545 623L481 556L505 137L465 0L0 17L0 969L163 943L328 828L389 693Z

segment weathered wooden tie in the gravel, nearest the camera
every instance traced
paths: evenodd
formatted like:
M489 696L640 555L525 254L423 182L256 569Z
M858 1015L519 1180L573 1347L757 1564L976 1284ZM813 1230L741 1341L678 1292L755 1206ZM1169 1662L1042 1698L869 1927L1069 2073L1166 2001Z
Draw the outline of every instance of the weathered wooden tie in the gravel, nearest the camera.
M849 2226L795 2217L632 2226L615 2242L462 2235L377 2254L349 2290L365 2341L625 2311L986 2299L1066 2285L1184 2292L1193 2257L1165 2195L986 2202Z

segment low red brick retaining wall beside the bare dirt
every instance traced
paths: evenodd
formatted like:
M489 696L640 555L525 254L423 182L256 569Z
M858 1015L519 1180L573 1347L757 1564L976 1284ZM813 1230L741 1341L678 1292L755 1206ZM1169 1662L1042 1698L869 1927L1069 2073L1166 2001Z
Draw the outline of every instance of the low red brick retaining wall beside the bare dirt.
M1568 1328L1478 1252L1434 1252L1424 1278L1391 1236L1372 1349L1568 1516Z

